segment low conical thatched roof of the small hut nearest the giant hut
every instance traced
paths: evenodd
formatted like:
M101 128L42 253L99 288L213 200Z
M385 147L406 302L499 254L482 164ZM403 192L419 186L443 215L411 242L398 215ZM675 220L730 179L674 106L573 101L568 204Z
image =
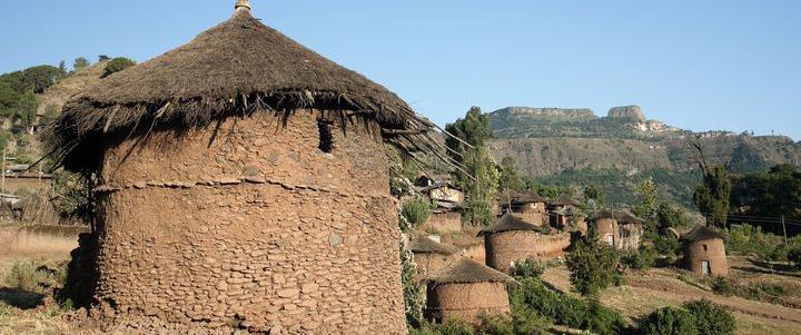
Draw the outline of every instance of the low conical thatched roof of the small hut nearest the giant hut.
M427 282L434 284L512 283L512 277L467 257L461 257L449 266L431 274Z

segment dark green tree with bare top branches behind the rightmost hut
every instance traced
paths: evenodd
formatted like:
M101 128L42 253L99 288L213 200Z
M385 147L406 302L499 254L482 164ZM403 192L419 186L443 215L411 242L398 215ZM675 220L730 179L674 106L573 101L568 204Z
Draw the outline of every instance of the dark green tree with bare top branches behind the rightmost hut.
M729 215L731 196L731 180L729 180L728 164L711 166L701 147L699 138L692 144L698 151L695 162L701 170L702 183L695 188L693 203L706 216L706 224L724 227Z

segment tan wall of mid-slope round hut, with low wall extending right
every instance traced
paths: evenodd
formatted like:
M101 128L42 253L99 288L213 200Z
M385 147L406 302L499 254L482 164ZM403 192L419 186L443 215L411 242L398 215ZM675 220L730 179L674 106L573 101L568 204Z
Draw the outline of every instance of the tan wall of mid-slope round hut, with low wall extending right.
M512 262L526 258L550 260L564 255L571 245L570 233L544 235L536 231L502 231L484 236L486 265L508 273Z

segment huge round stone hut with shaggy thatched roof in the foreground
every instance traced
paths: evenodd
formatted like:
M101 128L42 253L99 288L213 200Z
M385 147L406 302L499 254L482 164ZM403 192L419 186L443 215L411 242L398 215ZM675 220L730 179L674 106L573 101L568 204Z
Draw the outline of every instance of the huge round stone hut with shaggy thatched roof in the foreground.
M434 125L249 9L67 102L49 148L100 183L65 294L99 319L406 333L384 142L441 150Z

